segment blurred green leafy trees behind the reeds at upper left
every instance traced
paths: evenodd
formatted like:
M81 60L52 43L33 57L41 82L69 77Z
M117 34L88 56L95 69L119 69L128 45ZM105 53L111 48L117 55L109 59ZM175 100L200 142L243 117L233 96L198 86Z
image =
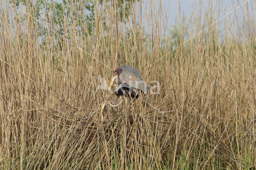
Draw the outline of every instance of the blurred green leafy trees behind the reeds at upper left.
M116 3L116 13L121 17L120 20L127 22L126 18L130 15L132 5L138 0L114 0L103 1L98 0L98 6L110 5L108 3ZM94 0L9 0L16 8L24 6L26 10L31 10L36 20L32 22L40 22L38 26L38 36L41 38L42 45L46 43L46 32L50 28L50 36L55 36L58 43L62 43L63 38L70 40L70 34L67 33L67 27L71 28L75 21L76 35L91 36L95 31L95 10L96 2ZM102 17L106 17L104 14ZM25 14L22 17L24 22ZM104 31L106 30L106 20L103 20ZM24 22L25 23L25 22ZM40 26L40 25L44 26ZM86 29L84 29L86 27Z

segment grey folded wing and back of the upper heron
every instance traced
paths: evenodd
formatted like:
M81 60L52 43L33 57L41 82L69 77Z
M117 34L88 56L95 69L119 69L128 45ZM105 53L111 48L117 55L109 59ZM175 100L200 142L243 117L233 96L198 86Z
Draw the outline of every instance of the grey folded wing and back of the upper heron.
M146 83L142 80L142 76L138 70L128 65L119 67L122 69L122 74L119 76L120 83L126 84L132 88L140 89L143 93L147 93Z

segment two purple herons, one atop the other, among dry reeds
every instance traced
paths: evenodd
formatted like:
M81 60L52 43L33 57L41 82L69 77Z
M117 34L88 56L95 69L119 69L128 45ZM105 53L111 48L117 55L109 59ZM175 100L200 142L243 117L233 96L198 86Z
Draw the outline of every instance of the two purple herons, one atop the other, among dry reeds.
M102 111L107 104L110 104L112 107L120 105L122 102L120 100L121 96L137 99L140 94L147 94L152 89L151 86L146 85L142 80L138 70L129 65L122 65L114 71L108 91L110 91L113 83L117 85L114 90L114 93L117 95L116 100L106 99L101 105L100 115L102 115Z

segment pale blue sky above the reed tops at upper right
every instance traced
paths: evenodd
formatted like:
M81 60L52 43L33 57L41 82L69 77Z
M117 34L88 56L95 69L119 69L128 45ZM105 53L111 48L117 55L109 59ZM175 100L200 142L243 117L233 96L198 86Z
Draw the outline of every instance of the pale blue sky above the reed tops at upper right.
M62 0L55 0L57 2L62 2ZM215 5L216 2L218 2L216 10L214 12L214 17L215 19L221 18L220 21L216 22L216 25L220 24L221 25L221 30L225 32L224 29L224 24L227 20L230 20L230 18L240 18L242 16L242 9L248 8L249 11L256 11L255 10L255 0L143 0L143 6L145 7L145 10L142 9L142 16L145 16L149 12L149 6L150 2L155 3L155 7L159 8L160 2L162 5L163 9L166 9L166 12L163 14L166 15L168 18L167 22L162 20L162 23L166 24L167 23L167 30L169 30L175 23L175 19L178 14L178 2L180 2L180 12L181 14L184 14L184 18L186 19L186 22L190 19L192 15L198 17L199 14L199 4L202 4L202 12L201 16L204 18L205 12L207 10L207 7L209 6L209 3L212 3L212 5ZM221 1L221 4L219 4ZM247 6L242 5L244 2L248 2ZM220 10L218 10L218 6L220 5ZM242 6L241 6L242 5ZM196 8L194 8L196 6ZM235 11L234 9L236 7L240 6L237 8ZM252 10L254 8L254 10ZM167 10L168 9L168 10ZM245 11L245 10L244 10ZM228 14L230 12L230 14ZM227 16L225 16L228 14ZM246 14L247 15L247 14ZM250 14L254 16L255 18L255 13ZM242 17L243 18L243 17ZM242 19L243 20L243 19ZM232 20L232 22L235 23L237 27L242 25L243 23L236 23L236 20ZM243 21L242 21L243 22ZM245 21L247 22L247 21ZM146 23L147 25L148 23ZM145 27L145 29L148 29L150 27ZM163 33L163 30L162 30Z

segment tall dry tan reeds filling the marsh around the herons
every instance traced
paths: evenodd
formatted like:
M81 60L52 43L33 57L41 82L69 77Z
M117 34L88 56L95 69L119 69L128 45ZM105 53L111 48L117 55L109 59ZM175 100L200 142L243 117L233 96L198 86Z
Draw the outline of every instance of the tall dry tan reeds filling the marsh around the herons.
M178 10L170 34L160 1L144 3L150 8L144 18L146 7L136 3L128 24L115 1L94 3L92 35L75 34L72 16L56 44L55 26L36 21L35 8L24 14L1 1L0 168L256 168L254 1L234 2L242 6L223 19L221 0L206 4L206 12L196 1L201 10L188 19ZM81 29L89 32L86 24ZM108 94L97 89L98 75L109 81L124 64L147 83L158 81L160 94L128 108L107 107L101 121Z

